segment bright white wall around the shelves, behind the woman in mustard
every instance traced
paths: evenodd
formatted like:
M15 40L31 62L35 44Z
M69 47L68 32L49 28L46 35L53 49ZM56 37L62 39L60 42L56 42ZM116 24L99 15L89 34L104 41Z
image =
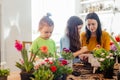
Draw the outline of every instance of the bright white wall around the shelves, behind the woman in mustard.
M89 0L90 1L90 0ZM106 14L98 14L100 17L101 23L102 23L102 29L107 29L109 33L114 32L115 35L120 34L120 30L118 29L120 27L120 24L118 21L120 21L120 0L115 0L115 3L113 6L117 7L119 9L119 12L111 12ZM76 0L76 15L80 16L80 12L83 9L84 6L80 5L80 0ZM80 16L83 21L85 21L85 16ZM82 31L84 31L85 28L82 28Z

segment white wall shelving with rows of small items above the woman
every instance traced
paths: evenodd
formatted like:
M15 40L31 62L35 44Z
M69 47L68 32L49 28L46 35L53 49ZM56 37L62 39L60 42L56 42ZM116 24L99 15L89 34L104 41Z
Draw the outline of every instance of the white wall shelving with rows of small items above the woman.
M80 5L80 15L86 15L89 12L98 14L114 12L114 0L81 0Z

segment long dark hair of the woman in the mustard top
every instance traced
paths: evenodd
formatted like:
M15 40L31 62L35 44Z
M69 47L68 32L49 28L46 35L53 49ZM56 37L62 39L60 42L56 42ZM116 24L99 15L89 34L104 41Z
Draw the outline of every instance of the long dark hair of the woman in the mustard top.
M85 21L87 19L94 19L97 21L98 23L98 28L96 30L96 40L97 40L97 43L101 45L101 36L102 36L102 29L101 29L101 22L100 22L100 19L98 17L98 15L96 13L89 13L86 18L85 18ZM85 27L86 29L86 37L87 37L87 40L86 40L86 43L89 44L89 40L90 40L90 37L91 37L91 32L88 30L87 26Z

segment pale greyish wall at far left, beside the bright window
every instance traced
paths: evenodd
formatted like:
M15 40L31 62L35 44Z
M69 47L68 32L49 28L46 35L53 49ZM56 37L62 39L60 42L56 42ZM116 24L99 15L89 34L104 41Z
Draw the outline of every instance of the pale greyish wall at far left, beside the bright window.
M31 0L2 0L2 35L2 61L15 71L20 59L15 40L32 41Z

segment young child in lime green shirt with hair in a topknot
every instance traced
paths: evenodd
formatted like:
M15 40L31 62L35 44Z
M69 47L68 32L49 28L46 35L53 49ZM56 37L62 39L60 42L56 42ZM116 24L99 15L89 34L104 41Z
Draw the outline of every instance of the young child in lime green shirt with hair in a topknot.
M31 50L33 52L36 52L42 46L47 46L48 52L53 55L56 52L55 42L50 39L54 29L54 22L49 16L50 14L47 14L47 16L44 16L39 22L38 30L40 31L40 36L32 42Z

